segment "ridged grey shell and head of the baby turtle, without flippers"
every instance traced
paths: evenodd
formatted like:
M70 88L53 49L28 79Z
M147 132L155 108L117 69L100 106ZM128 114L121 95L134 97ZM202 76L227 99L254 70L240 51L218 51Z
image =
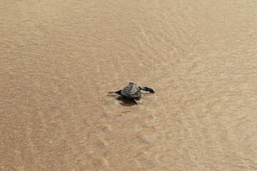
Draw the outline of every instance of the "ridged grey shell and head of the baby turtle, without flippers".
M136 83L131 82L121 90L121 94L126 98L140 98L141 90L136 86Z

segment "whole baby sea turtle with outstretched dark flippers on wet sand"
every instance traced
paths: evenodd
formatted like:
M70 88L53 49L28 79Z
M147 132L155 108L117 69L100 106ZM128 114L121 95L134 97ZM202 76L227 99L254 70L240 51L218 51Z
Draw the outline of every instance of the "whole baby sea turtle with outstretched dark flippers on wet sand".
M142 87L142 86L136 86L136 83L130 82L128 86L124 87L122 90L116 91L116 92L109 92L111 93L116 93L121 96L117 98L117 100L121 100L123 98L129 98L133 99L136 104L139 104L139 102L136 100L137 98L141 98L141 90L148 91L150 93L154 93L154 90L148 87Z

